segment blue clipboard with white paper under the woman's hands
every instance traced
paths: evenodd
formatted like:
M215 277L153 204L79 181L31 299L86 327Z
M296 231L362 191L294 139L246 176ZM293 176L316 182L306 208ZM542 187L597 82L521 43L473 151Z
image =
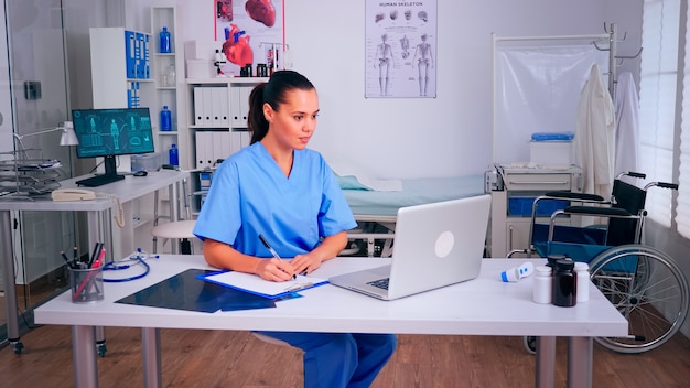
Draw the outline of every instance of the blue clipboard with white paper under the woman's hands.
M263 280L256 274L226 270L200 274L197 278L273 300L328 283L328 279L308 277L303 274L298 274L294 280L274 282Z

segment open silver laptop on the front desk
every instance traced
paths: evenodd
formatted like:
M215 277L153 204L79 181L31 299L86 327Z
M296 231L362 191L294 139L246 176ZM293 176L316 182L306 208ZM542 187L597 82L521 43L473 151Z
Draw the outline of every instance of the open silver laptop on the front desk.
M398 209L391 263L328 279L331 284L393 300L479 274L490 195Z

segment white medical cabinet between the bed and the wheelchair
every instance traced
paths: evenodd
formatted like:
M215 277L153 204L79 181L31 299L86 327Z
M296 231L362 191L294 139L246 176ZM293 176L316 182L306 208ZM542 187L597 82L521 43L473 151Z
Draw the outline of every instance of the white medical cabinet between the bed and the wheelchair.
M582 170L574 165L569 169L494 165L486 172L486 183L492 195L488 254L506 257L513 250L529 248L533 200L551 191L582 192ZM548 223L547 215L564 205L560 201L543 203L537 220ZM575 225L578 220L560 218L559 223Z

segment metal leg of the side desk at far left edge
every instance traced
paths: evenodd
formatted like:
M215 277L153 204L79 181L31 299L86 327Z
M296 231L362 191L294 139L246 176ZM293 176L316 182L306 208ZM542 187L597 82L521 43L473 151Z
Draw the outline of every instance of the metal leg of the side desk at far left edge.
M2 255L2 281L4 283L4 300L8 319L8 342L14 346L14 353L22 352L19 342L19 316L17 316L17 285L14 282L14 252L12 251L12 222L10 211L0 212L0 249Z

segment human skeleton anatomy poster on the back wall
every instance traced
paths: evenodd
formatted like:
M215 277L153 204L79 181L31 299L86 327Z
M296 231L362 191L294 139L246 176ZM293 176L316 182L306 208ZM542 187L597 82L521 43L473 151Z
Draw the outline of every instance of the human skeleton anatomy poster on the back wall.
M366 98L436 97L436 1L366 0Z

